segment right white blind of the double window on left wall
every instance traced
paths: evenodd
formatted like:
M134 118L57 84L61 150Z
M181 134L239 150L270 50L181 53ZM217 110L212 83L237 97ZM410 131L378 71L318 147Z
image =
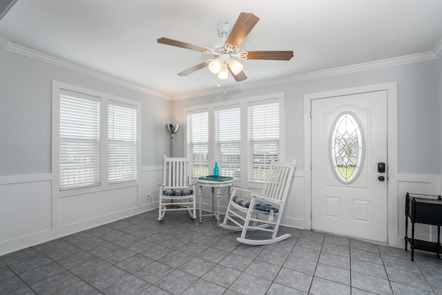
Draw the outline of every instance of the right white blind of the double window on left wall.
M137 179L137 110L109 102L108 106L108 181Z

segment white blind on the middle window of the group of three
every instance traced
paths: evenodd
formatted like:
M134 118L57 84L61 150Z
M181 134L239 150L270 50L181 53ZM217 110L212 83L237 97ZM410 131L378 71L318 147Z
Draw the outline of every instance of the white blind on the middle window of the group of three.
M220 175L240 180L241 113L240 108L215 110L215 161Z

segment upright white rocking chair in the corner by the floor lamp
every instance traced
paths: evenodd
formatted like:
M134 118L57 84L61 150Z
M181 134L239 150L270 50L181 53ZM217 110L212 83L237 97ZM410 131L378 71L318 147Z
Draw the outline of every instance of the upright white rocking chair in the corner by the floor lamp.
M196 218L196 189L189 175L189 159L164 156L163 183L160 186L158 220L163 220L166 211L187 210Z

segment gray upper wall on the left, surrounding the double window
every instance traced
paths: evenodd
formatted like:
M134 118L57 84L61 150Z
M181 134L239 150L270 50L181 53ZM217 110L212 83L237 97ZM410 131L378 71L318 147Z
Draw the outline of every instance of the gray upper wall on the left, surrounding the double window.
M51 172L52 79L142 103L142 166L169 153L171 102L0 50L0 176Z

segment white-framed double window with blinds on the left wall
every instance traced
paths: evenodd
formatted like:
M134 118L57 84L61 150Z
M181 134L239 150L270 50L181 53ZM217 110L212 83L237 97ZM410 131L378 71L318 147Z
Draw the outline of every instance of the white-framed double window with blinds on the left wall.
M52 87L52 171L62 196L137 180L140 102L59 82Z

